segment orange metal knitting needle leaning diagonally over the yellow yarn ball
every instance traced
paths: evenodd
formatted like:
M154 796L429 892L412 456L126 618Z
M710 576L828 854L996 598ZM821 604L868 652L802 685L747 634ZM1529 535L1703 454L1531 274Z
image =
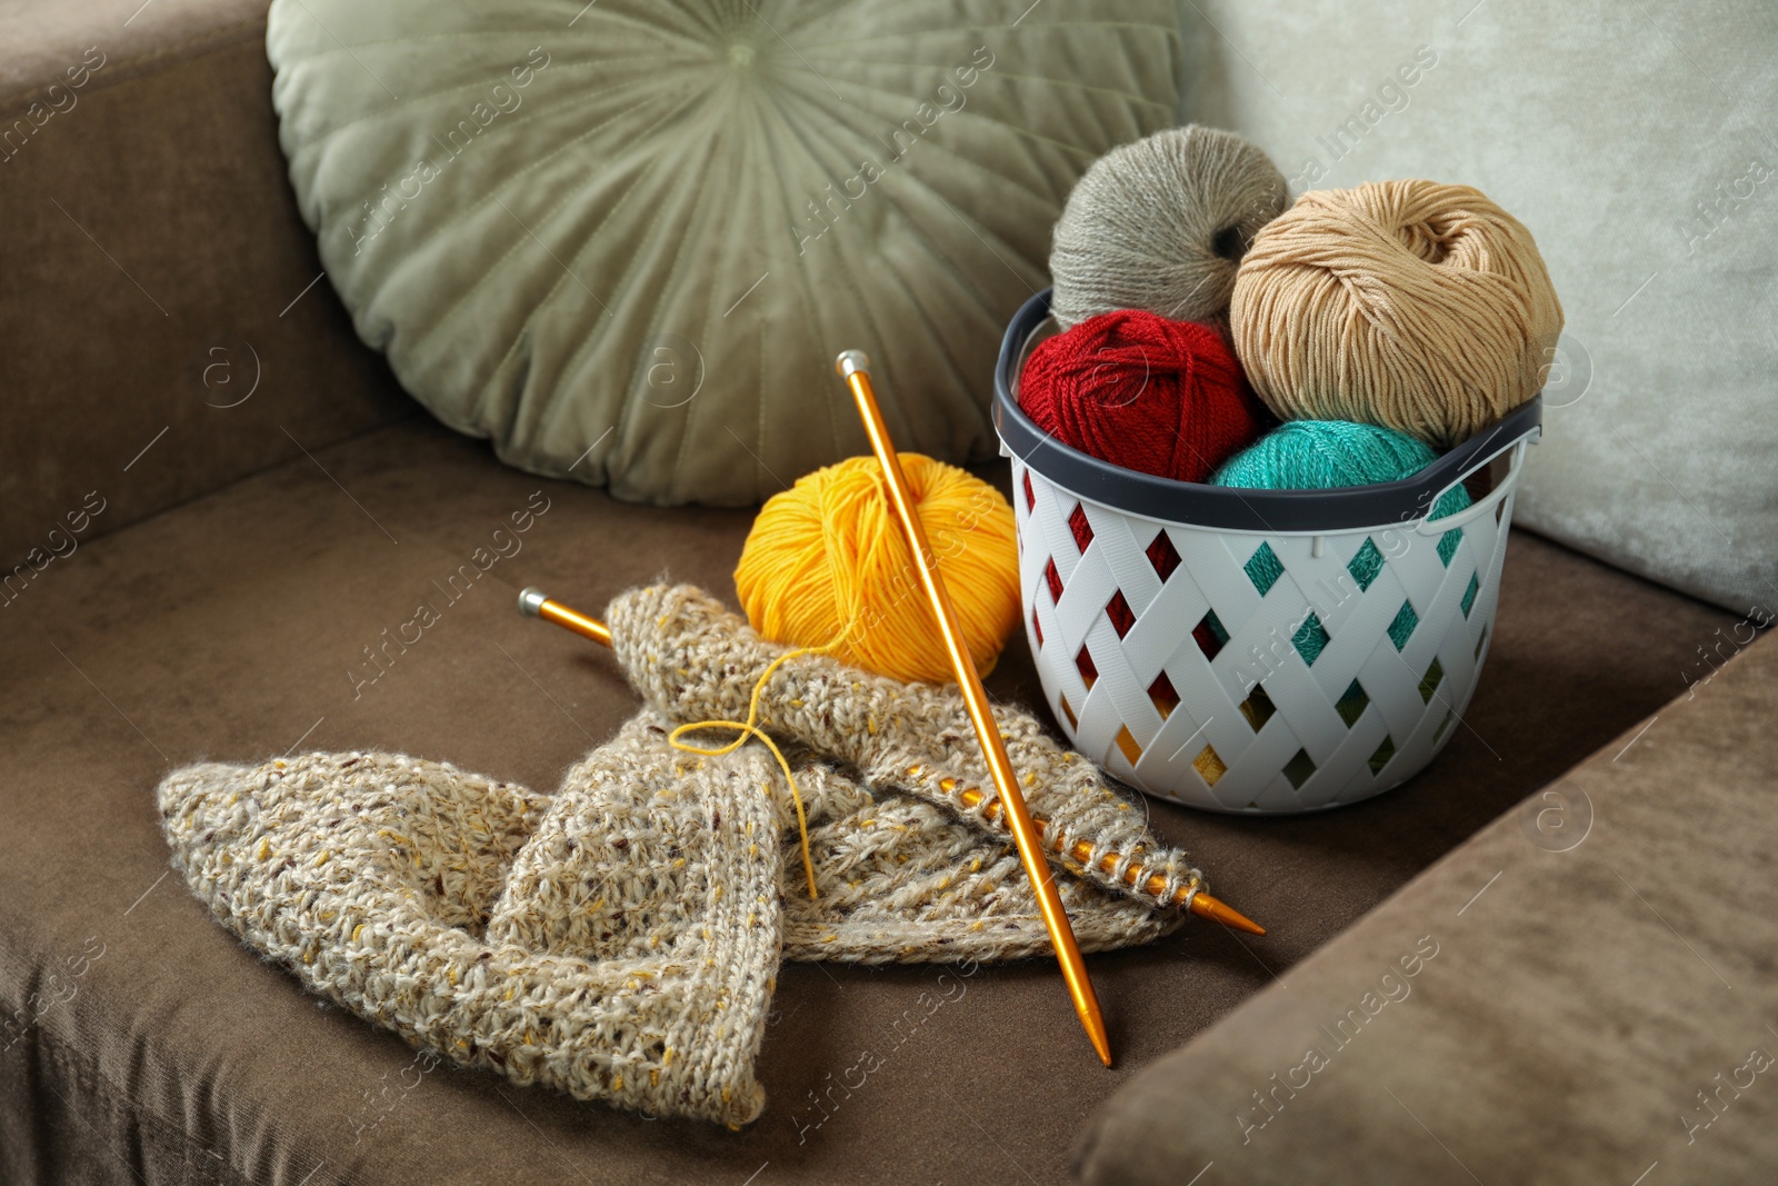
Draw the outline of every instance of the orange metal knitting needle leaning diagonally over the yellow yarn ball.
M877 407L877 395L871 391L869 359L862 350L846 350L834 359L834 370L839 372L839 377L852 389L852 398L859 405L859 418L864 421L864 434L871 439L871 450L877 453L878 464L882 464L884 484L889 487L889 501L896 519L901 523L901 535L907 539L907 548L914 557L914 571L919 574L919 583L926 589L926 601L932 605L933 619L937 619L939 637L951 656L951 672L957 676L957 688L964 695L964 708L969 709L969 720L976 727L976 740L981 743L981 756L989 765L989 773L994 775L994 788L999 791L1001 804L1005 804L1006 823L1012 829L1013 841L1019 845L1019 859L1031 878L1031 889L1037 891L1037 909L1044 916L1044 926L1049 930L1049 942L1056 950L1056 962L1061 964L1061 978L1067 982L1069 996L1074 999L1074 1012L1079 1015L1081 1026L1086 1028L1086 1037L1092 1040L1093 1049L1099 1051L1099 1058L1109 1067L1111 1038L1106 1035L1104 1015L1099 1012L1099 996L1093 992L1093 982L1086 974L1086 960L1081 958L1081 948L1074 941L1074 928L1069 926L1069 914L1061 909L1061 894L1056 891L1056 880L1049 871L1049 859L1044 855L1042 839L1031 823L1031 811L1024 805L1024 795L1019 791L1019 779L1012 770L1012 759L1006 757L1006 743L1001 741L999 725L994 724L994 713L989 709L989 697L981 690L981 677L976 676L976 661L971 658L962 631L957 628L957 612L951 608L951 596L944 589L944 576L939 573L932 544L926 542L926 528L921 525L919 516L914 514L914 494L907 487L907 475L901 473L901 459L894 452L894 443L889 441L889 427L884 425L882 409Z

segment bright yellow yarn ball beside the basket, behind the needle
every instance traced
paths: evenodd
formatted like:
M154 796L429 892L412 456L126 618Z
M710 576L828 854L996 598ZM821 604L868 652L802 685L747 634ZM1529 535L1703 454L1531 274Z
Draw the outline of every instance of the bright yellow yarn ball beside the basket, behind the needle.
M1019 622L1012 507L987 482L921 453L901 453L901 471L985 676ZM766 500L734 590L772 642L837 642L834 658L905 683L955 679L875 457L816 469Z

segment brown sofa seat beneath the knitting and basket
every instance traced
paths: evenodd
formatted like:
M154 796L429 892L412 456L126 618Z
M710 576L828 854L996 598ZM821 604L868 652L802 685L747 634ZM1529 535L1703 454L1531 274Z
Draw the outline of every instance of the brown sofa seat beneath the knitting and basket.
M1515 533L1488 672L1421 777L1296 820L1149 805L1273 930L1090 957L1115 1070L1047 960L786 967L745 1133L416 1062L171 871L155 786L192 761L382 749L558 784L638 701L519 589L599 612L665 573L731 601L749 521L533 478L414 418L94 541L0 610L0 1181L1058 1181L1134 1069L1661 709L1734 622ZM1040 702L1022 647L990 692Z

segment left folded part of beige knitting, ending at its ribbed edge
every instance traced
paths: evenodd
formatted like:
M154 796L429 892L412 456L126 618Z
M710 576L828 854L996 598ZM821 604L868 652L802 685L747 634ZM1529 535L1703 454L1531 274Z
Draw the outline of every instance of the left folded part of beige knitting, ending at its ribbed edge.
M745 1124L781 944L777 845L747 839L777 827L761 773L711 765L692 795L621 736L551 798L306 754L176 770L160 809L197 896L313 992L516 1083ZM541 869L573 850L571 907Z

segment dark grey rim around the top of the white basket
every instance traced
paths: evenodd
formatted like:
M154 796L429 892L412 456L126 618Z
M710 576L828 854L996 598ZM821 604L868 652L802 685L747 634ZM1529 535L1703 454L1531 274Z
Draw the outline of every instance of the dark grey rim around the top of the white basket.
M994 430L1021 462L1069 493L1127 514L1227 532L1357 532L1406 526L1426 517L1433 496L1479 466L1536 434L1543 395L1456 445L1438 461L1401 482L1332 491L1255 491L1175 482L1124 469L1070 448L1024 414L1013 398L1024 343L1049 317L1049 293L1026 301L1006 325L994 366Z

